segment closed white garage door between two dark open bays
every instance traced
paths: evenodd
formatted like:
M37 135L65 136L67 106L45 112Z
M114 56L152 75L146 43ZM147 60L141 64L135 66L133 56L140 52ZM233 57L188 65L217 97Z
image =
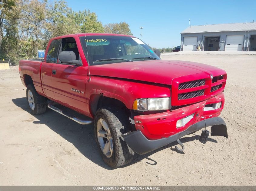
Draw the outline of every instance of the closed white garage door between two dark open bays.
M226 39L225 51L242 51L244 35L228 35Z

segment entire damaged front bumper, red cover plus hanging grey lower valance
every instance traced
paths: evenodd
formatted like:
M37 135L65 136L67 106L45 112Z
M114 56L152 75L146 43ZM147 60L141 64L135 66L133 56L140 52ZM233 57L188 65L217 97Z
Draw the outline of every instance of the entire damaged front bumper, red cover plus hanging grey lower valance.
M224 120L218 117L224 107L224 94L176 110L134 116L136 131L123 134L126 143L138 154L145 154L177 139L211 126L211 135L228 138ZM217 104L220 105L217 107ZM178 126L178 121L182 121Z

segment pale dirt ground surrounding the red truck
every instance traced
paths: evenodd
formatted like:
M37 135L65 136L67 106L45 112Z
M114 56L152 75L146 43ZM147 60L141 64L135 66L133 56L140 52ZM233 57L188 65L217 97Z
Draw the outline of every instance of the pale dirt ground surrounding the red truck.
M38 116L28 112L15 66L0 71L0 185L256 185L256 55L176 53L161 58L226 70L221 117L228 139L210 137L204 145L199 131L180 139L184 153L174 143L111 170L100 157L92 125L52 110Z

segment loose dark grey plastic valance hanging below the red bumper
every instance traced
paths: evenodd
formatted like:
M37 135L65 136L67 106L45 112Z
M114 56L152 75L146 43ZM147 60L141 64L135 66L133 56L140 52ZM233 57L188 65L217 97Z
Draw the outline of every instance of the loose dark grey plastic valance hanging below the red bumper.
M131 147L133 151L138 154L146 154L150 151L154 151L160 147L168 145L169 143L172 143L185 135L199 131L200 129L209 126L211 126L211 136L219 135L228 138L227 126L221 117L212 117L202 120L198 123L194 123L186 130L171 135L168 138L149 140L142 134L140 130L128 132L122 136L125 139L125 142Z

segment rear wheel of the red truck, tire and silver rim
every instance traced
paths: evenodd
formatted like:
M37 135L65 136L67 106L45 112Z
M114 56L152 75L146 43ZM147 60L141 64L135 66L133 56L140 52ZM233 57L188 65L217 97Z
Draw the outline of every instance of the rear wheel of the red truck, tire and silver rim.
M32 99L31 99L32 98ZM27 103L32 114L39 115L45 113L47 99L37 93L31 84L27 86Z

